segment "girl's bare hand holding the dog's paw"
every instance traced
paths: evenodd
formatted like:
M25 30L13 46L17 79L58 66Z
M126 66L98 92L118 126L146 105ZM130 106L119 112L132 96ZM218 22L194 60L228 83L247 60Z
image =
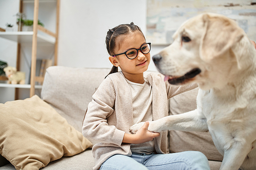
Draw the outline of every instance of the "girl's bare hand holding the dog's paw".
M136 134L124 134L123 143L144 143L153 140L155 137L160 136L160 133L150 132L147 130L149 122L145 122L144 125L138 130Z

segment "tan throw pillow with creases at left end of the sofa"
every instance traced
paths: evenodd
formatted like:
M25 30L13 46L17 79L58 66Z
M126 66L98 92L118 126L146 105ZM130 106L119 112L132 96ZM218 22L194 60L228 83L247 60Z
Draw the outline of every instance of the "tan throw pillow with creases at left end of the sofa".
M0 104L0 154L16 169L39 169L92 145L37 95Z

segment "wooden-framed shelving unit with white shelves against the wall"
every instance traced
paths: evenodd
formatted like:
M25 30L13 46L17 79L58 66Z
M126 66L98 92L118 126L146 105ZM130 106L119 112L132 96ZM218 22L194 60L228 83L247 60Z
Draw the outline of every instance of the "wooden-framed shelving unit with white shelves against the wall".
M40 26L37 22L34 22L33 31L25 32L25 31L17 31L17 32L5 32L4 29L0 29L0 37L15 41L17 42L17 70L19 70L20 65L20 44L27 43L31 44L32 46L32 56L31 56L31 75L30 75L30 84L7 84L7 83L0 83L0 87L5 88L15 88L15 100L18 99L18 89L19 88L27 88L30 89L30 96L33 96L35 93L35 89L41 89L42 85L35 85L36 81L42 82L44 78L36 77L36 51L37 46L40 45L52 45L55 48L54 54L54 65L57 65L57 47L58 47L58 22L59 22L59 2L60 0L19 0L20 8L19 12L23 13L23 5L24 3L34 3L34 16L33 20L38 20L38 8L39 2L40 3L47 3L47 2L56 2L56 31L55 33L51 32L50 30ZM42 33L42 34L38 34ZM1 77L0 80L7 80L6 77Z

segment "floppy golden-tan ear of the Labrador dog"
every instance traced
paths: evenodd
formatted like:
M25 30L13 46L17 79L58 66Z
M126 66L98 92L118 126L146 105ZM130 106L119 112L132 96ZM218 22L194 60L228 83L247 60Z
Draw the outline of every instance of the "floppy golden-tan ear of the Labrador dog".
M202 15L204 33L200 42L200 57L211 60L227 52L244 36L235 21L223 16Z

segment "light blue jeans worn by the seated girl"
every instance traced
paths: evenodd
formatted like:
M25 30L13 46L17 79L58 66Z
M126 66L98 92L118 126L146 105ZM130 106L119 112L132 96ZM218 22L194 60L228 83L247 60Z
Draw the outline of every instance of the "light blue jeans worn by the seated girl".
M204 154L198 151L186 151L173 154L132 154L132 156L113 155L100 167L100 170L146 170L179 169L210 170Z

